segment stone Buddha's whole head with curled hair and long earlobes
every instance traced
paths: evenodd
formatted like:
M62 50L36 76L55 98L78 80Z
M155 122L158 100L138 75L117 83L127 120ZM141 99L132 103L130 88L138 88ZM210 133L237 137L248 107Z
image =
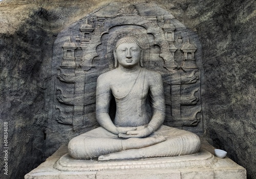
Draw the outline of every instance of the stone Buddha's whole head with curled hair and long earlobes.
M114 50L115 67L119 65L131 68L139 65L141 60L141 47L137 38L126 36L119 39ZM118 62L118 63L117 63Z

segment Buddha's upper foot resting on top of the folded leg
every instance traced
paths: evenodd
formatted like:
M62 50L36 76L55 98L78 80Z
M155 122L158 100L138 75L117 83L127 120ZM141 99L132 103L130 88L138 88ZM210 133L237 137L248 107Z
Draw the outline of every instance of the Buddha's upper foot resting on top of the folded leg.
M138 149L148 147L160 142L165 141L165 137L146 137L146 138L129 138L126 140L122 140L122 148L123 150L127 149Z

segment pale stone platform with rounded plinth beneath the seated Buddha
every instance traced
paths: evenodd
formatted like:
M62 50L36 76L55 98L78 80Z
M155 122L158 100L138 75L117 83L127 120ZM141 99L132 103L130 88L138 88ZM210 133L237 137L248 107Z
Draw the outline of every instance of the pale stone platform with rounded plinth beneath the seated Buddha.
M229 158L219 159L214 148L203 142L195 155L97 162L73 160L67 146L61 146L46 162L25 175L25 179L244 179L246 170Z

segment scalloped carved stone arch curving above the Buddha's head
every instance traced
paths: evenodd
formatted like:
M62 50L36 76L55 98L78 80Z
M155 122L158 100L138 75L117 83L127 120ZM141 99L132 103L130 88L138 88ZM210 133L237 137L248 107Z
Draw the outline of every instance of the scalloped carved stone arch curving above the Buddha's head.
M153 34L154 36L154 44L159 45L161 49L160 57L164 59L165 68L172 71L177 67L174 62L174 57L170 53L168 48L168 42L165 40L163 30L154 24L152 21L143 18L139 15L124 15L124 16L116 16L109 19L106 19L99 27L97 27L92 33L92 38L90 40L90 44L87 47L87 53L84 54L82 58L82 63L80 63L80 67L89 70L93 67L92 61L93 58L97 57L98 54L96 52L96 47L101 44L101 36L105 33L109 33L109 30L113 27L120 25L138 25L146 29L147 34ZM128 29L123 33L134 33L132 29ZM118 34L117 34L118 35ZM116 36L117 36L116 35ZM137 36L143 37L141 34L136 34ZM146 39L146 38L144 38ZM109 52L109 51L108 51ZM108 55L109 57L109 55ZM110 65L111 67L111 65ZM111 67L112 68L112 67Z

